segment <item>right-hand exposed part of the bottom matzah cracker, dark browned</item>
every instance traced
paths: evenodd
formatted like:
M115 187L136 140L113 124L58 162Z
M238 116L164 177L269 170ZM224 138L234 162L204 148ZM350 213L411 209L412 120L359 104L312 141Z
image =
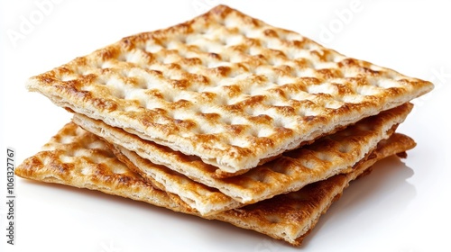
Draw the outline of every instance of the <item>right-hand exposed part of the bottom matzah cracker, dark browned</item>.
M241 209L226 211L215 216L244 229L256 229L272 238L279 238L299 246L303 238L313 229L321 214L343 193L349 183L383 157L402 153L414 148L415 141L401 134L393 134L382 141L368 159L354 166L354 172L340 174L327 180L308 184L298 192L276 196Z

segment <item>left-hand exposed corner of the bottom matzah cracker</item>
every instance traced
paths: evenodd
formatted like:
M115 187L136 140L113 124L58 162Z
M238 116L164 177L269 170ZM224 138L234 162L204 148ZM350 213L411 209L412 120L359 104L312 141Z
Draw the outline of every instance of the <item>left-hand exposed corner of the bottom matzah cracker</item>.
M145 183L115 157L104 141L75 123L66 124L39 153L17 166L15 175L191 211L182 202L167 200L167 193Z

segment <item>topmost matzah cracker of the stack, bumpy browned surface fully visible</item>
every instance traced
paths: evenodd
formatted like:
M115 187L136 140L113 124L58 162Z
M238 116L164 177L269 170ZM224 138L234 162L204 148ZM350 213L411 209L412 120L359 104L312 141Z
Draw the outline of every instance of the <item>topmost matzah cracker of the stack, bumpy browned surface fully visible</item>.
M433 87L225 5L126 37L27 85L70 111L201 157L225 175Z

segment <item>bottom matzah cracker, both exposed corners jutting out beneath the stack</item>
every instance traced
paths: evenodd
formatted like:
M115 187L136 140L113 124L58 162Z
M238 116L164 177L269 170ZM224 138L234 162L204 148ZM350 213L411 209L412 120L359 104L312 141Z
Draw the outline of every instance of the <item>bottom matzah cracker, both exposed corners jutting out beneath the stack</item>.
M221 212L209 219L230 222L244 229L253 229L272 238L300 245L319 216L342 193L349 181L383 157L413 148L415 142L407 136L394 134L382 141L373 154L354 167L353 173L336 175L316 184L309 184L299 192L276 196L242 209ZM44 146L44 150L23 161L15 174L33 180L68 184L80 188L116 194L133 200L198 215L180 201L144 182L127 166L119 162L106 148L105 142L82 130L74 123L67 124Z

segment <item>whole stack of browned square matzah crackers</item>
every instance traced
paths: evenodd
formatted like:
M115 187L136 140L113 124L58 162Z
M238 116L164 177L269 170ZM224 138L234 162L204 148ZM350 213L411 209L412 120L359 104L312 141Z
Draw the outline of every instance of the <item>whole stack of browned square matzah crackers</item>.
M27 85L74 116L16 175L295 246L350 181L415 146L395 130L433 88L225 5Z

